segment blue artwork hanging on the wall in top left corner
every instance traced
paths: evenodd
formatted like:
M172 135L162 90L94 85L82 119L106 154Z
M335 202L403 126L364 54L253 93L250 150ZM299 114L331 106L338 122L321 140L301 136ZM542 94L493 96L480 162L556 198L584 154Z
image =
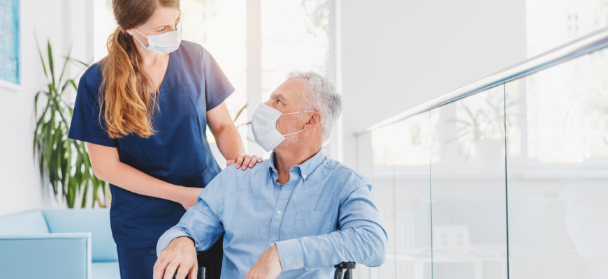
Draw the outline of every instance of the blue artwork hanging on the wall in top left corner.
M19 0L0 0L0 81L19 81Z

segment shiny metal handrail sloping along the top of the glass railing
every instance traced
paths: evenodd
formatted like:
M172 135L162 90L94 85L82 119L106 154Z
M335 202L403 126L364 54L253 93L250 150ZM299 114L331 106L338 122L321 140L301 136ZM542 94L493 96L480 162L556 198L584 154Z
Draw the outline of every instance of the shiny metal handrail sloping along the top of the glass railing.
M507 68L506 70L502 70L493 75L488 75L481 80L477 80L476 82L462 86L459 89L434 98L426 103L412 107L405 112L401 112L400 114L392 116L389 119L385 119L374 126L370 126L369 128L362 130L361 132L357 133L357 135L369 133L372 130L389 125L396 121L407 119L410 116L414 116L421 112L433 110L436 107L441 107L442 105L471 96L493 86L508 82L510 80L515 80L525 75L530 75L531 73L535 73L544 68L555 66L578 56L594 52L595 50L600 50L604 47L608 47L608 27L590 33L587 36L577 40L573 40L565 45L556 47L553 50L544 52L543 54L534 56L526 61L516 64L515 66Z

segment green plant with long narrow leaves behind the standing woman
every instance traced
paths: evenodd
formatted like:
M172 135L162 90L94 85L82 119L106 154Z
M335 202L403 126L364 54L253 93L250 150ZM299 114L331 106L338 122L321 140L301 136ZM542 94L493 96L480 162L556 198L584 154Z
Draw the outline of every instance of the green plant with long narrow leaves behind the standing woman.
M36 45L38 46L37 38ZM78 86L73 79L64 80L66 66L68 62L79 63L87 68L89 65L72 59L68 52L57 78L50 42L47 46L48 61L45 61L38 47L47 86L34 97L34 157L38 160L41 181L43 186L52 187L57 200L65 198L68 208L73 208L77 203L82 208L86 207L89 188L92 188L92 204L97 202L99 207L106 207L109 191L106 190L106 182L93 173L85 142L68 138L73 107L64 100L64 93L70 87L78 91ZM40 115L39 103L44 105Z

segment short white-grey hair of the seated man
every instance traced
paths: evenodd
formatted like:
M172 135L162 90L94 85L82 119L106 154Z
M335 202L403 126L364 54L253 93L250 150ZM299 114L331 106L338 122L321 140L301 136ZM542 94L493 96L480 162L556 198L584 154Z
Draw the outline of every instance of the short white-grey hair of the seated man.
M306 86L302 93L303 110L321 112L321 129L325 142L331 134L331 129L342 114L342 97L335 91L335 86L324 76L313 71L294 71L287 79L305 78Z

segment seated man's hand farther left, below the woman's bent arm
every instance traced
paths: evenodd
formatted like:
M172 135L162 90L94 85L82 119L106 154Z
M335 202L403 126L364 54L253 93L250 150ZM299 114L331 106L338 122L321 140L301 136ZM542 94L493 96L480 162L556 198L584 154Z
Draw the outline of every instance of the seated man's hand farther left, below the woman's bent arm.
M194 242L187 236L173 239L163 249L154 264L154 279L171 279L175 275L175 271L178 271L175 279L184 279L186 276L196 279L196 273L198 273L196 249Z

